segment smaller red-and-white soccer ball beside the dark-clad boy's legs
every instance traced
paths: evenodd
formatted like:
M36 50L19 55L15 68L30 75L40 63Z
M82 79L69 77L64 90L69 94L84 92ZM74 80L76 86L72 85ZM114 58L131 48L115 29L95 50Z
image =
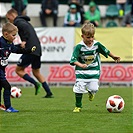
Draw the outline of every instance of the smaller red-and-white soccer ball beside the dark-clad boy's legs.
M22 92L21 92L20 88L15 87L15 86L13 86L11 88L11 97L12 98L19 98L19 97L21 97L21 95L22 95Z

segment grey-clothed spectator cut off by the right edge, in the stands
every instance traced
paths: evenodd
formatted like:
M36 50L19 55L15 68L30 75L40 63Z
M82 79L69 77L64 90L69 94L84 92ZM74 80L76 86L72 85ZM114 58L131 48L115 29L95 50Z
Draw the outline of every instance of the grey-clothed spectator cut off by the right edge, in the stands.
M133 3L131 6L131 11L124 15L122 20L123 27L133 27Z

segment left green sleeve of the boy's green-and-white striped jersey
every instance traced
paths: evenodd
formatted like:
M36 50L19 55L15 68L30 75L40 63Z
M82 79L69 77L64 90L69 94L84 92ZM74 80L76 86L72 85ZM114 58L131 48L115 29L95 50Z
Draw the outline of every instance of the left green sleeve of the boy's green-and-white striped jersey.
M70 65L74 66L74 62L78 61L80 48L81 48L80 45L75 46L74 51L72 53L71 60L70 60Z

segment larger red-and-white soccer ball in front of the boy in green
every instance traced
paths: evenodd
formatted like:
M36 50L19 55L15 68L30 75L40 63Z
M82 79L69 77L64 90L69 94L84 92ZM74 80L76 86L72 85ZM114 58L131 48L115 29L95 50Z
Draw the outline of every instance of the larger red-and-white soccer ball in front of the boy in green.
M124 109L125 102L119 95L110 96L106 101L106 109L109 112L121 112Z

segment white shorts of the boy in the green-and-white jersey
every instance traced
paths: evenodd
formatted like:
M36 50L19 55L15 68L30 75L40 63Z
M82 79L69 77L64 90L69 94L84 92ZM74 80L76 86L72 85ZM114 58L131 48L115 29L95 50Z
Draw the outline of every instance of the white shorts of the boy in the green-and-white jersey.
M90 81L90 82L83 82L77 81L73 87L73 92L75 93L91 93L95 94L99 88L99 81Z

